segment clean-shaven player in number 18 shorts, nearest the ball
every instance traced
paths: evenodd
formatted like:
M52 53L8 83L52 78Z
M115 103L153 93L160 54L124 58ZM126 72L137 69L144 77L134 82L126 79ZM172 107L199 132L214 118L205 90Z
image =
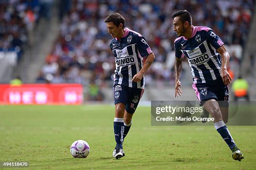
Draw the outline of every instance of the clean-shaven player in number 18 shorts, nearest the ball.
M115 56L114 100L115 100L115 150L113 157L125 156L123 140L128 134L141 96L144 92L144 74L154 61L154 53L141 34L125 28L125 18L119 13L105 19L108 33L113 37L110 49ZM146 57L143 66L143 57Z

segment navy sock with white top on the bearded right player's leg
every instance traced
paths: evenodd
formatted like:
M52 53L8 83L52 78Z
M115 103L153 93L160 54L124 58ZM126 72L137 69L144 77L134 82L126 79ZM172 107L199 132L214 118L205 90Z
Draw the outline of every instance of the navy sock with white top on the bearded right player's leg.
M216 122L214 127L219 132L223 140L228 144L230 150L232 150L233 147L236 147L236 143L234 142L228 128L226 127L226 124L223 121Z

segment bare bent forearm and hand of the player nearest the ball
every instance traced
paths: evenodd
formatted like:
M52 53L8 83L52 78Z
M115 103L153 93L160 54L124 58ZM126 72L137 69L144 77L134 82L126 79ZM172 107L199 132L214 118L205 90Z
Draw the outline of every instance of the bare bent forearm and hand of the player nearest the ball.
M141 81L141 79L143 78L143 75L146 73L146 71L148 70L148 68L151 66L151 63L153 63L155 59L155 55L154 53L150 53L148 54L146 61L143 65L143 68L133 76L133 82L138 83L139 81Z

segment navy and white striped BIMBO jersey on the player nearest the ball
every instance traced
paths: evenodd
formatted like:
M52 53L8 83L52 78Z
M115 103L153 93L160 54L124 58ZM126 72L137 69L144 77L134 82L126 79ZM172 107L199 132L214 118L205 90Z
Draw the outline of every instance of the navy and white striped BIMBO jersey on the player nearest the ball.
M110 48L115 56L114 85L144 89L144 76L138 83L133 82L132 79L143 67L142 58L153 53L146 39L141 34L125 28L120 41L117 38L111 40Z

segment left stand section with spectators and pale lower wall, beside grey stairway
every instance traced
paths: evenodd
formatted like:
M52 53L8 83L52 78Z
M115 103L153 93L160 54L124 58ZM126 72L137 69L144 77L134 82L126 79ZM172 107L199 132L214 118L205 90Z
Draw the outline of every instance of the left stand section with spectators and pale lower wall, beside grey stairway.
M8 82L29 46L29 32L40 18L38 0L0 1L0 82Z

